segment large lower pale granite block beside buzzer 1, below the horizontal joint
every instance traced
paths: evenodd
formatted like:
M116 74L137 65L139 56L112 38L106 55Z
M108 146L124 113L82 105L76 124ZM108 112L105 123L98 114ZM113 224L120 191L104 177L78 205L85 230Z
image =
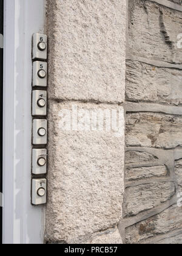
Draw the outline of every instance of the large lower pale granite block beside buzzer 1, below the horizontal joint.
M122 217L124 110L111 104L49 104L45 240L76 243L116 226ZM95 118L90 122L91 116L102 111L109 111L112 117L110 130L109 119L103 119L103 127L102 118L98 119L99 126Z

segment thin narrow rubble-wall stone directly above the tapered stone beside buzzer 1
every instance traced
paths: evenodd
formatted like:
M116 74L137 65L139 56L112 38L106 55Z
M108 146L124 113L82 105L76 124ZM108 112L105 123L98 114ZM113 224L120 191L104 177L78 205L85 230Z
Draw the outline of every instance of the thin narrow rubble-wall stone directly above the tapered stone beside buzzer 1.
M132 180L149 179L153 177L167 176L167 169L164 165L127 167L125 179L127 182Z

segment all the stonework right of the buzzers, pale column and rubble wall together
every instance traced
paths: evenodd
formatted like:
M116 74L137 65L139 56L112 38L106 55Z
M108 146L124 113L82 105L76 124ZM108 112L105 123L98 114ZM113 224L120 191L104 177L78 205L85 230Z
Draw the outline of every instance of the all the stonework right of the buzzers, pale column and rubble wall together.
M182 243L181 25L180 0L47 0L45 243Z

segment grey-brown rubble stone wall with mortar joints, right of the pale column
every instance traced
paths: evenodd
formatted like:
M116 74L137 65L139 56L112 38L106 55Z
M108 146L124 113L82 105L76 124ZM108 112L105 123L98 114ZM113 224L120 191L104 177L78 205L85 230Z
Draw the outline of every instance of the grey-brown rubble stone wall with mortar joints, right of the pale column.
M123 242L182 243L181 1L129 0Z

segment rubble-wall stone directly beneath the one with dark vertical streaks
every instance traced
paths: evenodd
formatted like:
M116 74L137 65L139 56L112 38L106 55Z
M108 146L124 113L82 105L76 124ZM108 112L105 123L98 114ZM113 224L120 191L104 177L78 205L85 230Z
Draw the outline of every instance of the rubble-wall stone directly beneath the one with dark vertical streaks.
M181 59L182 60L182 59ZM129 101L182 103L182 71L127 61L126 99Z

